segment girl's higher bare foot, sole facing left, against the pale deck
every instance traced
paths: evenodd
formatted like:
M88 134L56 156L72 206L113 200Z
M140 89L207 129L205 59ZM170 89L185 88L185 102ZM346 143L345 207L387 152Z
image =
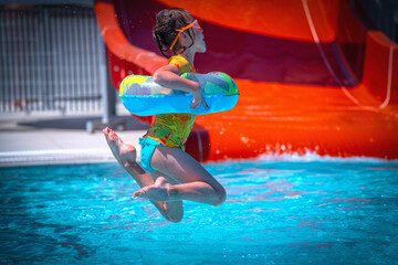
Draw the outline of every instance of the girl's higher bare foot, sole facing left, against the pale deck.
M137 152L134 146L125 144L121 137L108 127L103 129L103 132L114 157L122 166L136 161Z

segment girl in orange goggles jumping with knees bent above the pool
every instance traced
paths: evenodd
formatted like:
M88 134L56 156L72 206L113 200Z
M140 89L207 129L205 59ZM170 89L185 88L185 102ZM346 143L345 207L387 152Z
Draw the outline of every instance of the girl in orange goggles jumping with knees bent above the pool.
M207 107L198 83L180 77L193 72L197 52L206 52L203 30L184 9L167 9L156 17L153 38L160 52L171 51L166 66L154 74L154 81L167 88L193 94L191 108ZM220 205L226 200L223 187L192 157L184 151L196 115L157 115L147 134L139 139L143 168L136 163L136 150L124 144L109 128L103 131L117 161L142 187L134 197L149 199L169 221L179 222L184 215L182 200ZM155 181L154 181L155 180Z

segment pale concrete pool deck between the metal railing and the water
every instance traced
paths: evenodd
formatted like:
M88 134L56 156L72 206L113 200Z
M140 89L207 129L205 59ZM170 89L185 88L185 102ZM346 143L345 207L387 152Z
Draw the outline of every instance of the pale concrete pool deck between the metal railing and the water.
M116 162L101 129L87 132L86 123L101 121L101 113L0 114L0 167L53 163ZM126 113L111 121L124 121L115 131L137 148L147 125Z

